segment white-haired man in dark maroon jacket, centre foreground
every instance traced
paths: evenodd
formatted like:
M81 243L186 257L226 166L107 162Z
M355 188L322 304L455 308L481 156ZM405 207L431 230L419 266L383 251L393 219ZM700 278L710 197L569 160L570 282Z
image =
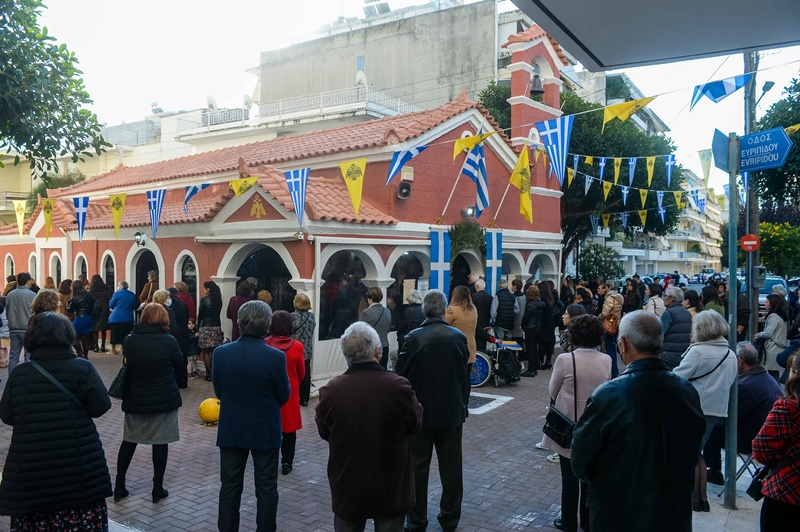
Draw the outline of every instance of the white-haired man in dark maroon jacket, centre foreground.
M328 442L328 482L337 532L403 529L414 506L409 436L419 431L422 405L408 380L380 365L378 333L364 322L340 341L348 370L319 392L316 422Z

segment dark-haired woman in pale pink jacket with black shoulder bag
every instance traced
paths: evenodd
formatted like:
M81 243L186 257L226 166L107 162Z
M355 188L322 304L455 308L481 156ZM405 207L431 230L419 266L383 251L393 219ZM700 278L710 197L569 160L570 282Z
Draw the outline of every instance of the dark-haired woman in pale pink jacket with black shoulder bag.
M550 377L550 397L555 407L569 419L580 419L586 408L586 401L595 388L611 378L611 359L594 349L603 340L603 323L591 315L575 317L569 326L573 345L578 346L571 353L558 355ZM575 357L573 371L572 357ZM577 379L575 373L577 372ZM575 383L577 381L577 394ZM576 411L577 418L576 419ZM572 473L570 450L556 445L544 437L544 447L558 453L561 457L561 517L553 525L559 530L577 530L580 507L580 525L584 530L589 526L589 510L586 507L586 486L579 483ZM580 504L579 504L580 500Z

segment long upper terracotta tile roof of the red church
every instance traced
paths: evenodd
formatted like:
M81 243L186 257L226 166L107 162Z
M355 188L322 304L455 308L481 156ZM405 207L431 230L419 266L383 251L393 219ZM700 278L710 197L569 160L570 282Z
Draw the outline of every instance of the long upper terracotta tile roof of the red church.
M479 103L470 101L464 92L452 102L425 111L300 135L287 135L142 166L119 166L111 172L82 183L53 190L51 196L72 197L132 184L141 185L229 172L238 168L239 159L242 158L247 161L248 166L256 167L333 153L390 146L418 138L447 120L471 109L478 110L489 120L494 129L500 130L500 126L486 109ZM508 137L502 131L500 135L510 146Z

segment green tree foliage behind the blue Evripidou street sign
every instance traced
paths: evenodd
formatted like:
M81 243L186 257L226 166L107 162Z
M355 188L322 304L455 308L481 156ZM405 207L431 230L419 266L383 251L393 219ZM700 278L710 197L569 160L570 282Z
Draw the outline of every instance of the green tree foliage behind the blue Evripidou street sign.
M769 108L757 130L800 124L800 78L792 80L783 92L786 97ZM778 205L800 202L800 133L795 133L792 141L794 146L782 167L751 174L762 200Z

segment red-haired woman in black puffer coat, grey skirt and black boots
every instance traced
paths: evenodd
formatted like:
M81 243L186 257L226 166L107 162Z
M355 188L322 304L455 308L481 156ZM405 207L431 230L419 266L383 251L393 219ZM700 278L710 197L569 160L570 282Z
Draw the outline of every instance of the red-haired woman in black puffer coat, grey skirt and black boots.
M181 394L177 375L184 365L178 341L169 334L169 314L163 305L148 303L139 323L125 338L126 365L122 411L125 425L117 457L114 500L128 496L125 475L139 443L153 446L153 502L169 493L164 489L168 445L180 439L178 408Z

